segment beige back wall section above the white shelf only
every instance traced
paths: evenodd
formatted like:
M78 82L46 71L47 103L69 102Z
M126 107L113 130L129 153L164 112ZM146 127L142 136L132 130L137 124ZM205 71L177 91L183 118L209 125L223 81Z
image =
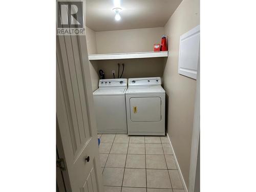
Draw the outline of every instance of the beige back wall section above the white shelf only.
M97 51L98 54L153 51L163 32L163 27L96 32Z

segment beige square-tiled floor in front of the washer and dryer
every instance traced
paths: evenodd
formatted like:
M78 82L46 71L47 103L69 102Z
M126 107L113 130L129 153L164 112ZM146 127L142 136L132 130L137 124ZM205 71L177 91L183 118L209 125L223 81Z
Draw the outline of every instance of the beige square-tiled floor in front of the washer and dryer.
M105 192L184 192L167 137L98 137Z

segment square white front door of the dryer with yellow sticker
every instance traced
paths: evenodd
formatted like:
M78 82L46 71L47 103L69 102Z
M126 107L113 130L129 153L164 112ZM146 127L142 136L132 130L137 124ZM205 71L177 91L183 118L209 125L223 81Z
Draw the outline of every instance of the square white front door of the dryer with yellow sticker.
M161 98L137 97L130 99L132 121L160 121Z

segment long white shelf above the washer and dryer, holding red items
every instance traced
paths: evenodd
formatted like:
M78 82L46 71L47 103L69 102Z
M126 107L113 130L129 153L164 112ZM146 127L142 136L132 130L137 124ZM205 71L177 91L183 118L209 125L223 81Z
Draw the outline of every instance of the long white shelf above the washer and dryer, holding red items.
M89 60L109 60L109 59L135 59L135 58L168 57L168 51L137 52L137 53L93 54L93 55L89 55L88 57L89 57Z

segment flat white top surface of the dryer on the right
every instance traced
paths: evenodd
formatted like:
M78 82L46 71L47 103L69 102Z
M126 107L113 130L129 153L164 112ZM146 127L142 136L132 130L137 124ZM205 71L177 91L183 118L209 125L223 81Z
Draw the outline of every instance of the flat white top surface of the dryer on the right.
M154 93L165 93L161 86L148 86L148 87L129 87L126 90L127 95L132 94L154 94Z

